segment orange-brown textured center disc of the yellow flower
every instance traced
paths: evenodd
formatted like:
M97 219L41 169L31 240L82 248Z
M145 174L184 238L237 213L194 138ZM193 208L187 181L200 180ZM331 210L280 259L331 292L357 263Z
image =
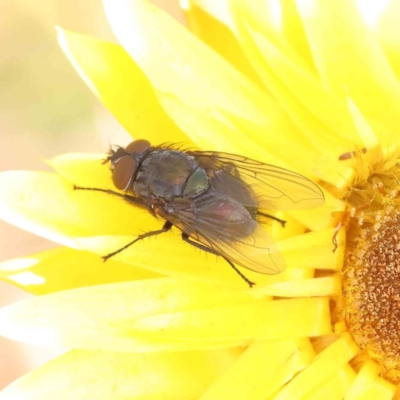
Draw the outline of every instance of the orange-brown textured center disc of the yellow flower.
M358 230L343 269L346 324L358 345L400 382L400 200L393 191L352 222ZM355 220L355 219L354 219ZM350 236L350 235L349 235Z

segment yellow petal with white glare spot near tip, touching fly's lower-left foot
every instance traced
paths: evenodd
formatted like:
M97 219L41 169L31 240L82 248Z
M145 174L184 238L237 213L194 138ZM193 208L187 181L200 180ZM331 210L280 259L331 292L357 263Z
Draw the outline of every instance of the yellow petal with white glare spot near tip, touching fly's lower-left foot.
M105 264L98 255L68 248L0 263L1 279L33 294L157 276L156 272L112 259Z

